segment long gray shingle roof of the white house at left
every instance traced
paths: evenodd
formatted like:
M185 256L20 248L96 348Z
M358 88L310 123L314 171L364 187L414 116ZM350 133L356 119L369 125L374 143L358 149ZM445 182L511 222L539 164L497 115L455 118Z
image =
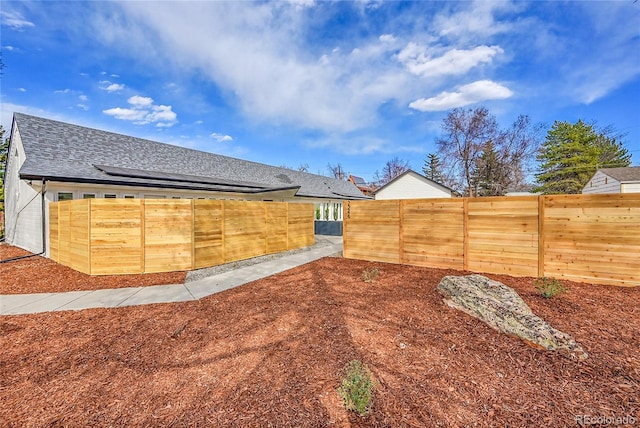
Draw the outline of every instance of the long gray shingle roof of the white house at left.
M296 196L364 198L348 181L21 113L14 119L26 152L23 178L243 193L299 187Z

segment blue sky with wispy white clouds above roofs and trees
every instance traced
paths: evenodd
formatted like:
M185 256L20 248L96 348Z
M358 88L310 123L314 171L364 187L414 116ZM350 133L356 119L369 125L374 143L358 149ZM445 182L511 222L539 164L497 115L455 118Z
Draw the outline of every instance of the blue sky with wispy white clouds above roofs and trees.
M14 111L370 180L420 171L455 107L627 133L640 165L640 3L2 1Z

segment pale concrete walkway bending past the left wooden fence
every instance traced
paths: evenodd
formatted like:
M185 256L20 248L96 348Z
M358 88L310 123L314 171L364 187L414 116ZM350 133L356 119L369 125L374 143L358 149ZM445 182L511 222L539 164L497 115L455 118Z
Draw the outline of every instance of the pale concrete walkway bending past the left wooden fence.
M89 308L117 308L149 303L198 300L251 281L266 278L342 251L342 239L324 239L310 250L278 256L193 282L66 293L0 295L0 315L35 314Z

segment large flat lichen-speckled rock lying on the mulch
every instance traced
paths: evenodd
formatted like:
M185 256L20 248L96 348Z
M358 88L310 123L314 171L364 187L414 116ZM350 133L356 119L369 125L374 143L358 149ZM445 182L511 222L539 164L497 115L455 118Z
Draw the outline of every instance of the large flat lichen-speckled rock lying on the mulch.
M482 275L445 276L438 284L444 302L476 317L499 332L515 335L527 344L559 351L574 360L588 354L566 333L534 314L512 288Z

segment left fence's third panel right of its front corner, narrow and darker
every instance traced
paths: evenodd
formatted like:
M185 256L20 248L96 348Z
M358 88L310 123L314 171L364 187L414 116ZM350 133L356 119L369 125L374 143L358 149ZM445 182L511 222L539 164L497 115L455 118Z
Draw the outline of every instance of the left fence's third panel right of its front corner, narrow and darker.
M194 200L194 268L224 263L223 201Z

